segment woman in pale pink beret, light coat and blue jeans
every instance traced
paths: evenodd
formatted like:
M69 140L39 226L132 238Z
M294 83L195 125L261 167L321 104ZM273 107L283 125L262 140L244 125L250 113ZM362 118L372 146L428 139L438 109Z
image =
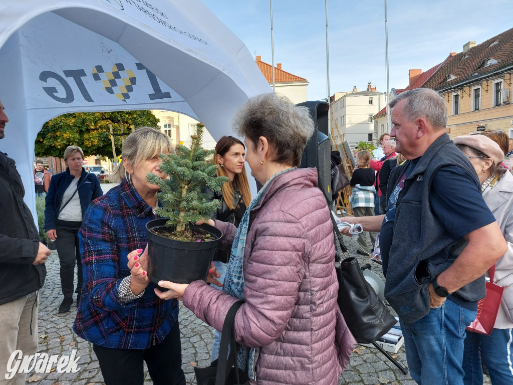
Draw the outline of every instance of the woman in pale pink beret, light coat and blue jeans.
M513 176L499 163L504 153L499 145L483 135L461 136L454 143L468 157L476 169L483 198L494 214L502 235L506 239L508 251L496 263L494 281L507 287L503 298L512 304L510 309L501 306L494 330L489 336L467 331L463 353L465 385L483 383L481 356L491 383L503 385L513 383Z

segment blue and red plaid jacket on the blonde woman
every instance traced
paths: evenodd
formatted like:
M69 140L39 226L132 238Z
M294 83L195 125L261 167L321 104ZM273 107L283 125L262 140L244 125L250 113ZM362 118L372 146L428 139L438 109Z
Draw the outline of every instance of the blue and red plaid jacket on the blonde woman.
M87 209L80 233L84 287L73 330L105 348L146 349L160 343L178 319L178 302L164 301L150 282L124 304L119 287L130 275L127 255L145 248L152 208L126 179Z

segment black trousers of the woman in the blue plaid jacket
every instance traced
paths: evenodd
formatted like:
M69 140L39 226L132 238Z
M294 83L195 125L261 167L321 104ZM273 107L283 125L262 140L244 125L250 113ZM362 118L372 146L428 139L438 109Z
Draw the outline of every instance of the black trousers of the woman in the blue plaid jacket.
M105 385L143 385L143 361L154 385L185 385L178 321L161 343L148 349L111 349L93 344L93 351Z

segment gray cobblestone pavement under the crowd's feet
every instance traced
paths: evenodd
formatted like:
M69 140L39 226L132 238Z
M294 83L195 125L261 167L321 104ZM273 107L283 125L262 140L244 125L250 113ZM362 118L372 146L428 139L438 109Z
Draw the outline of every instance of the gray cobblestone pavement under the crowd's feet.
M344 238L351 255L357 256L357 244L350 238ZM360 263L370 263L372 271L383 277L381 267L366 257L358 256ZM76 349L78 360L77 373L58 374L56 372L28 374L27 377L36 376L33 383L36 385L92 385L103 383L102 373L98 365L92 345L78 337L72 330L76 315L76 302L73 302L69 313L57 313L62 301L60 278L58 274L59 262L56 251L52 252L47 261L48 275L45 287L40 291L39 309L39 352L48 355L71 354ZM194 384L193 364L206 367L210 364L210 348L213 339L213 329L203 321L196 318L185 307L180 310L180 330L182 335L183 370L187 384ZM393 357L406 367L404 347ZM41 378L38 378L38 377ZM151 379L146 371L146 384ZM350 365L342 373L339 384L379 384L413 385L415 381L409 374L404 375L378 350L374 348L357 347L351 356ZM489 377L485 376L485 383L489 384Z

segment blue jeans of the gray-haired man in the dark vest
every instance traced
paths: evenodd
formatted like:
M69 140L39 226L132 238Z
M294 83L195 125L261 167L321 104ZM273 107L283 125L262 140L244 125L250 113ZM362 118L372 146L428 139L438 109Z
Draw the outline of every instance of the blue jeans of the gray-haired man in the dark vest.
M465 328L477 312L446 299L401 330L411 378L419 385L463 385Z

